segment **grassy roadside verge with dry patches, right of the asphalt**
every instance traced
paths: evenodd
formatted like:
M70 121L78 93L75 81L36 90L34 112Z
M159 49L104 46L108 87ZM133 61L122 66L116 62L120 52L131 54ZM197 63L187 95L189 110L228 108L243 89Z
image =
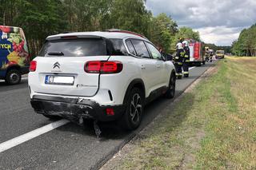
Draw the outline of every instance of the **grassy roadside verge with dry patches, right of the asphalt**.
M256 169L255 68L251 57L219 61L105 168Z

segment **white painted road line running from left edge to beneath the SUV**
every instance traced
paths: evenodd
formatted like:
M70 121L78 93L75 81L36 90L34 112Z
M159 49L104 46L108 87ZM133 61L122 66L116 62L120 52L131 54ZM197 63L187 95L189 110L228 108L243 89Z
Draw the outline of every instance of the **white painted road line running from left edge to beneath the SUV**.
M34 137L40 136L46 132L50 132L51 130L54 130L55 128L58 128L62 125L66 125L70 121L67 121L65 119L62 119L60 121L55 121L49 125L45 125L42 128L37 128L31 132L27 132L21 136L17 136L11 140L7 140L0 144L0 153L4 152L10 148L13 148L14 146L17 146L18 144L22 144L26 142L27 140L31 140Z

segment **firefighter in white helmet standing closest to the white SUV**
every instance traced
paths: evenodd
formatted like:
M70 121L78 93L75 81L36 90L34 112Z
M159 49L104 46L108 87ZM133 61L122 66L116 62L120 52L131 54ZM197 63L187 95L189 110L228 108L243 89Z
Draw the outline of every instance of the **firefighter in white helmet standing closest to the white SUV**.
M178 79L182 79L182 61L184 57L184 49L182 48L182 43L178 42L176 45L176 56L174 58L174 65L176 69L176 76Z

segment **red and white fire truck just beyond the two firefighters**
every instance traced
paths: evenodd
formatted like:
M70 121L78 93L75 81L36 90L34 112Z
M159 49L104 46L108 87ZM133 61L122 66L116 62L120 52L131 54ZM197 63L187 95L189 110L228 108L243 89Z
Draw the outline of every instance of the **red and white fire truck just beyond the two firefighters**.
M204 65L206 60L202 52L202 42L190 42L190 65Z

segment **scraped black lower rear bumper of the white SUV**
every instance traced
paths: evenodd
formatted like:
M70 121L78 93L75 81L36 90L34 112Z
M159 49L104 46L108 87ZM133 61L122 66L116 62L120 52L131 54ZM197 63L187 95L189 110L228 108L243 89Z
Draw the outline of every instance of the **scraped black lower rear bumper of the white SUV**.
M30 101L36 113L64 117L70 121L82 118L97 121L115 121L122 117L124 105L101 106L89 99L49 97L35 95ZM114 113L107 114L106 109L113 109Z

